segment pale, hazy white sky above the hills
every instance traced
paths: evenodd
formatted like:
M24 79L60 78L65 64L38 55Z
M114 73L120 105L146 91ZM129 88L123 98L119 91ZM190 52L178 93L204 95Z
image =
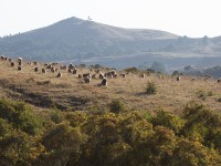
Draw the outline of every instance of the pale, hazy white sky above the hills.
M0 37L77 17L179 35L221 35L221 0L0 0Z

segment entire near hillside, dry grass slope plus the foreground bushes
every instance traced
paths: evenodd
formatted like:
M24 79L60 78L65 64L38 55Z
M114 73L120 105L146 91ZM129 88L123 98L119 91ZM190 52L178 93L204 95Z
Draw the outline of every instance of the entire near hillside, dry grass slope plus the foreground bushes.
M86 84L60 65L56 77L41 73L43 63L23 61L18 71L17 62L0 60L0 165L221 164L215 80L140 77L144 72L127 69L117 73L135 73L99 86L97 75Z

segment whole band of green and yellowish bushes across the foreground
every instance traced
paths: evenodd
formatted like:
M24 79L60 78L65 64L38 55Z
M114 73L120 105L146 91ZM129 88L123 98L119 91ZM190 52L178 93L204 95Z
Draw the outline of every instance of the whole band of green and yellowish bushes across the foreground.
M191 102L179 116L130 111L50 110L0 101L0 165L221 165L221 117Z

